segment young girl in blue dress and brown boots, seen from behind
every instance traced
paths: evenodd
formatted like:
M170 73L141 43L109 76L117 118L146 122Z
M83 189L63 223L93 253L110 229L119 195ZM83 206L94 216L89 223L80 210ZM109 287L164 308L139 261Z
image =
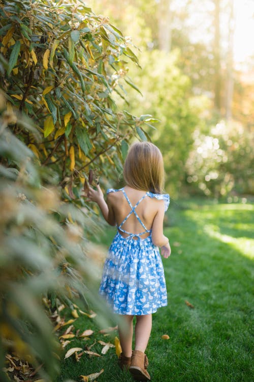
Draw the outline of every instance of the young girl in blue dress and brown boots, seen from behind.
M126 157L126 185L107 190L107 203L100 186L89 187L88 200L98 203L105 220L117 233L105 261L100 293L121 315L118 325L122 353L120 367L136 380L150 380L145 349L150 337L152 313L167 305L161 254L171 253L163 234L164 212L169 195L163 195L164 166L160 150L152 143L138 142ZM132 350L133 318L136 316L135 350Z

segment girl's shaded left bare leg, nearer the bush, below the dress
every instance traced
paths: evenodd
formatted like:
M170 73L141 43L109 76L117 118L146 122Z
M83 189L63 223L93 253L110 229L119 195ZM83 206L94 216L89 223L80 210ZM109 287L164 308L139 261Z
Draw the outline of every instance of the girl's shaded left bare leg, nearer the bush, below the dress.
M121 315L121 320L118 323L122 354L125 357L132 357L133 317L131 315Z

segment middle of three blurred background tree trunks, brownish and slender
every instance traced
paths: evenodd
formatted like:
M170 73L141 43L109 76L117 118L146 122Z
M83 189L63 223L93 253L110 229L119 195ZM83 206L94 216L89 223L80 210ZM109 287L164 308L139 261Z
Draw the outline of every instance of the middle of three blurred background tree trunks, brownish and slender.
M220 0L214 0L214 107L218 115L220 115L220 93L221 93L221 73L220 73L220 31L219 31L219 16L220 16Z

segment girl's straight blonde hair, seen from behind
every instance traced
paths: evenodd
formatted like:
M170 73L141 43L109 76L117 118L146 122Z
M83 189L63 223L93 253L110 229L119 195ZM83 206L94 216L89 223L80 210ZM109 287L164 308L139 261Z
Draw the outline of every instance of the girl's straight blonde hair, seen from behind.
M164 165L161 151L150 142L134 143L124 162L123 177L133 188L162 194Z

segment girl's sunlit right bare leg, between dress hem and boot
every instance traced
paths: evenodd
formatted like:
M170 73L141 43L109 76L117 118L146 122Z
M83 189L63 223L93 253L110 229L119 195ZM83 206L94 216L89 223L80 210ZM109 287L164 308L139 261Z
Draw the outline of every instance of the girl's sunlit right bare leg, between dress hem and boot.
M135 350L145 352L152 329L152 315L136 316Z

